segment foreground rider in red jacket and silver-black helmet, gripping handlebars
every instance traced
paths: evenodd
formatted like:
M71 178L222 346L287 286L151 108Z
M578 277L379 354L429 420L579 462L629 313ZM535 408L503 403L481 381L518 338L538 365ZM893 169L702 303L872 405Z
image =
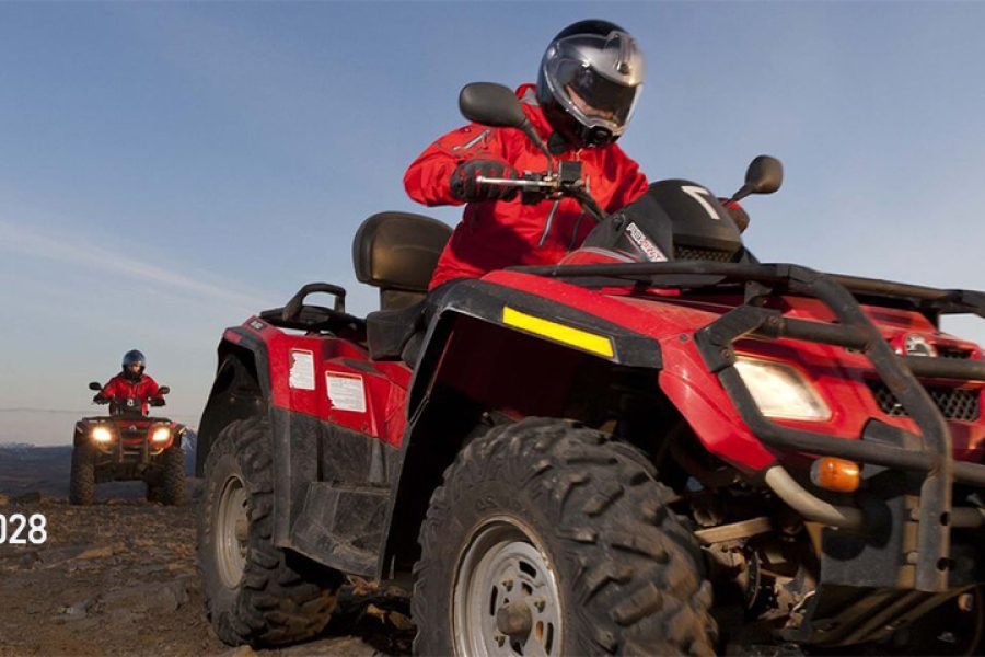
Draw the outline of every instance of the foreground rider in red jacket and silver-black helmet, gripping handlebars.
M615 143L631 117L645 69L642 54L625 30L606 21L581 21L551 43L537 84L517 90L555 159L581 161L582 178L606 211L647 189L639 165ZM511 265L554 264L581 244L594 221L577 200L523 205L515 189L476 181L546 170L546 155L520 130L477 124L449 132L410 164L404 186L414 200L467 204L431 289Z

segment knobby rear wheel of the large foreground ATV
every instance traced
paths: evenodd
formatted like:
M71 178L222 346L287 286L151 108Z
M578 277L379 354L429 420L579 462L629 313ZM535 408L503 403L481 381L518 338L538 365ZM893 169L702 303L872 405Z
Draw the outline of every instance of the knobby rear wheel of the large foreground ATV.
M236 420L205 465L198 563L206 612L223 642L279 645L314 636L335 608L341 576L274 546L269 422Z

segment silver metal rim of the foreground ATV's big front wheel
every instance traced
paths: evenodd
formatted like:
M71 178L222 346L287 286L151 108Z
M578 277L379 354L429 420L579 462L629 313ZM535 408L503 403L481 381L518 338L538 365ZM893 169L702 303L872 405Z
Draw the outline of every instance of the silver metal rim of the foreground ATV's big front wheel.
M459 655L561 655L557 576L534 537L507 517L473 531L452 597Z

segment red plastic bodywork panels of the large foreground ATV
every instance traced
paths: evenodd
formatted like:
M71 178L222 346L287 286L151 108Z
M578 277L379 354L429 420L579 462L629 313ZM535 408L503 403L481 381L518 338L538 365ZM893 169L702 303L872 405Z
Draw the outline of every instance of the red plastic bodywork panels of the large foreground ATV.
M663 359L659 384L711 453L746 473L762 471L778 458L786 458L767 449L745 428L694 344L697 330L741 303L741 299L706 297L696 301L676 290L650 290L642 295L637 290L630 297L628 287L590 290L557 279L506 270L494 272L484 280L564 303L658 341ZM775 307L790 318L833 320L831 312L813 299L785 297L776 300ZM864 307L864 310L901 353L906 337L916 334L940 348L966 351L969 358L983 357L977 345L938 332L919 313L887 308ZM252 318L244 326L257 334L267 347L274 405L335 423L393 446L401 445L407 426L410 380L406 366L373 362L359 345L332 336L290 334L257 318ZM231 331L225 337L240 342L240 336ZM798 368L832 411L825 422L781 420L787 426L858 439L865 424L874 418L916 431L915 424L908 418L890 417L880 411L866 384L866 379L872 378L874 372L859 354L789 339L744 339L737 344L737 351L781 360ZM293 374L292 368L296 368ZM964 383L963 387L985 396L985 385L981 383ZM982 402L985 404L985 399ZM949 424L955 457L985 462L985 417Z

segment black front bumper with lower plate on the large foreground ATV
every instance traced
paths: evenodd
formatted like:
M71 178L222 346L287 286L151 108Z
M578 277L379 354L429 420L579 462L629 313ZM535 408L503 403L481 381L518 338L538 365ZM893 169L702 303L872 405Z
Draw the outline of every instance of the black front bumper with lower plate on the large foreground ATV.
M723 267L734 267L723 265ZM864 465L867 482L880 482L882 493L856 505L830 504L796 484L778 487L783 476L766 481L808 520L850 530L827 529L824 535L822 581L855 586L890 586L940 592L981 578L982 564L959 568L952 533L985 527L981 507L953 505L955 486L985 488L985 464L957 461L948 423L917 377L961 381L985 380L985 362L896 356L862 312L849 288L868 293L924 295L941 299L938 312L967 312L985 316L985 296L901 286L883 281L845 279L791 265L739 265L756 297L775 293L811 296L837 316L828 324L787 319L779 311L746 303L698 331L695 342L709 369L734 403L750 430L765 445L780 449L849 459ZM882 284L880 287L879 284ZM855 290L859 293L859 290ZM791 338L847 347L860 351L900 400L920 430L915 435L879 420L870 420L858 440L781 426L765 417L734 368L734 343L748 335ZM783 469L775 465L775 469ZM772 473L777 474L775 471ZM887 484L892 481L892 484ZM955 545L957 548L957 545ZM982 561L981 558L978 560ZM825 567L826 566L826 567ZM981 580L981 579L980 579Z

